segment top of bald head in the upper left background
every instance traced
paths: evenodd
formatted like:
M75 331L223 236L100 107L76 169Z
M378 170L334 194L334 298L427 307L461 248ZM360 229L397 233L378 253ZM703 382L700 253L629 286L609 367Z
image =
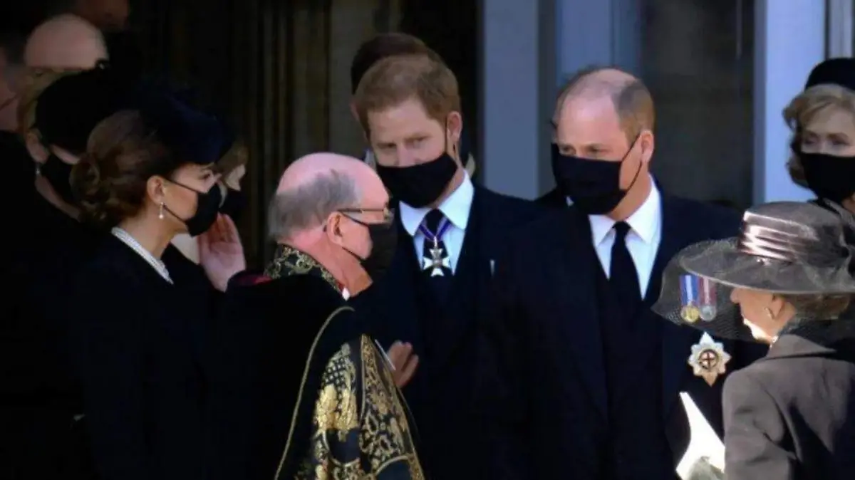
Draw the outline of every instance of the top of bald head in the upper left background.
M87 70L107 58L97 27L71 14L57 15L37 26L24 49L24 61L33 68Z

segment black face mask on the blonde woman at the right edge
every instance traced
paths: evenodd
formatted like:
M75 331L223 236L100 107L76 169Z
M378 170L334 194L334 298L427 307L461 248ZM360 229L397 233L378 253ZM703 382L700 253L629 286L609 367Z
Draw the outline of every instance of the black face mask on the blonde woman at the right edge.
M855 194L855 156L795 153L808 188L819 198L840 203Z

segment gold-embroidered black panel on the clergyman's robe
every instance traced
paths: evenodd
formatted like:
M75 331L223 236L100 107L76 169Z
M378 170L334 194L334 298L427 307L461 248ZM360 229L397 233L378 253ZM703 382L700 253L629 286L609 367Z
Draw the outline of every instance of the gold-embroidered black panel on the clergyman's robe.
M386 468L401 462L410 479L424 479L398 388L383 361L365 336L329 360L299 480L382 479Z

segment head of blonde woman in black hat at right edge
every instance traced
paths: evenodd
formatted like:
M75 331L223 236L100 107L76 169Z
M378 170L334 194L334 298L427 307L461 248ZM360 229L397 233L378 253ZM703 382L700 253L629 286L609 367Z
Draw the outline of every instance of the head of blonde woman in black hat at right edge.
M784 108L793 131L787 170L821 204L835 202L855 213L855 59L817 64L805 91Z

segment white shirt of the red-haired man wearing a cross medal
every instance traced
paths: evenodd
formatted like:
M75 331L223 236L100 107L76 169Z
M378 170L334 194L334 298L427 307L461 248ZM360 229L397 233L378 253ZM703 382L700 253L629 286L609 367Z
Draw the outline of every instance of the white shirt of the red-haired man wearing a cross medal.
M445 243L445 250L448 254L449 264L451 264L451 272L456 272L457 260L460 258L460 252L463 249L463 237L466 235L466 225L469 224L469 210L472 208L472 199L475 197L475 187L472 185L472 180L469 179L469 173L463 177L463 182L457 187L457 190L451 192L451 195L439 204L439 211L445 215L445 218L451 222L448 230L442 236L442 241ZM431 211L429 207L413 208L404 202L401 202L398 208L401 214L401 223L404 225L404 230L413 237L413 243L416 247L416 258L420 264L422 262L422 250L424 249L425 236L422 231L419 231L419 225L422 225L425 216Z

